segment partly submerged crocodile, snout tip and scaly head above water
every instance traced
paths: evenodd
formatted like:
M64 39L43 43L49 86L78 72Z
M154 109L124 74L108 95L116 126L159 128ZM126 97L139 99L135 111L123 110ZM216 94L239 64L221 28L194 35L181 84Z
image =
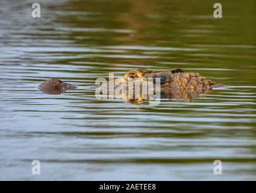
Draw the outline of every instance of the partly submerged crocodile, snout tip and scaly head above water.
M146 83L151 81L156 83L156 78L160 80L161 98L182 99L189 101L202 93L211 92L212 88L222 87L223 84L217 84L214 81L208 80L199 73L184 72L181 69L172 69L164 72L149 71L147 68L139 68L128 71L123 77L110 81L108 86L119 85L120 83L134 83L140 81ZM128 85L128 84L125 84ZM130 84L129 84L130 85ZM74 90L77 87L64 83L58 78L52 78L39 85L39 90L48 94L61 94L66 90ZM130 100L132 103L143 103L142 100Z

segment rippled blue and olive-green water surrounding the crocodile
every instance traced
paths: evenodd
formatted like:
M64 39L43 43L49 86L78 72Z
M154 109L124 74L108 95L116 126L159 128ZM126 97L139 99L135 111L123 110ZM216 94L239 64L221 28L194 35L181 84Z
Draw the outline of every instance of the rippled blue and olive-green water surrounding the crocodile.
M1 180L256 180L254 0L218 1L222 19L211 0L38 2L37 19L33 1L0 2ZM86 89L140 67L226 87L158 106ZM46 95L50 77L79 89Z

